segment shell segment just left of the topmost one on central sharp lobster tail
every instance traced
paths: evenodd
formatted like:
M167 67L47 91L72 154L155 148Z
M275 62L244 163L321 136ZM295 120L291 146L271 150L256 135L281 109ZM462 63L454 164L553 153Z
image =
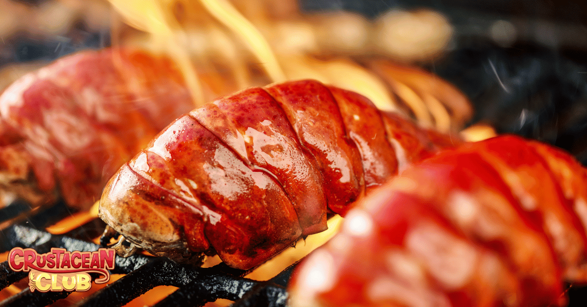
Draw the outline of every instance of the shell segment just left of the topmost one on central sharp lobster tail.
M326 229L326 200L315 161L284 111L264 89L250 88L190 114L251 169L272 176L288 196L303 235Z

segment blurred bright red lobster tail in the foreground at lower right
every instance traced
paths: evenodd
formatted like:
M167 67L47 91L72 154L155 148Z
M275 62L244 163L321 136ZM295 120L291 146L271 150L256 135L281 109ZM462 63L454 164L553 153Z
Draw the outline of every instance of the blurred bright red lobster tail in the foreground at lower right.
M563 282L587 282L586 183L571 155L518 136L443 151L350 211L290 303L564 305Z

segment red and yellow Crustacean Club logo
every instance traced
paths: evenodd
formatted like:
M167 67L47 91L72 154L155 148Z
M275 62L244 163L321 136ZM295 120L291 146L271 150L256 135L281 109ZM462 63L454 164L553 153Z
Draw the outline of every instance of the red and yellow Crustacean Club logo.
M29 289L47 291L88 291L92 287L90 273L101 275L94 282L110 280L109 269L114 269L116 252L100 248L96 252L68 252L52 248L38 254L32 248L13 248L8 253L8 265L15 272L29 272Z

